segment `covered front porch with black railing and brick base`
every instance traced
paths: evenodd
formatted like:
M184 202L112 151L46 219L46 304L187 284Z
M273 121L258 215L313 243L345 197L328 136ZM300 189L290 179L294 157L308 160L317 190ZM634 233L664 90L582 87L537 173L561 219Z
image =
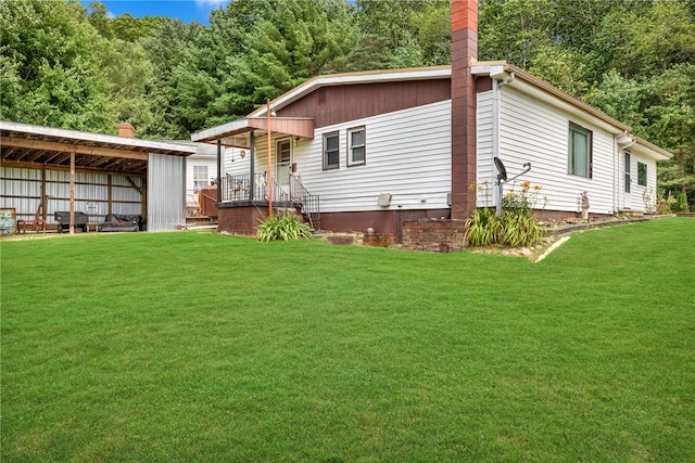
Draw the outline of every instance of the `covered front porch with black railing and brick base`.
M313 118L277 117L268 112L266 117L191 134L194 142L217 145L220 175L214 181L214 192L220 231L254 234L258 220L279 209L292 209L313 228L320 228L319 197L304 188L291 158L292 142L313 139L314 126ZM228 149L241 150L243 168L238 164L233 172L224 172L223 157Z

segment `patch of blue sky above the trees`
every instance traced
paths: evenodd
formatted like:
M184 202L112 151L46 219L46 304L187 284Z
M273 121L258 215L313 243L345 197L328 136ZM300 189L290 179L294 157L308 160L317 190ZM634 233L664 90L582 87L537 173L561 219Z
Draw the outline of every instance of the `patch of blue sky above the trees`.
M81 4L89 8L94 0L80 0ZM230 0L101 0L112 16L121 16L130 13L135 17L142 16L169 16L181 20L184 23L198 21L210 25L207 18L210 12L218 8L225 8Z

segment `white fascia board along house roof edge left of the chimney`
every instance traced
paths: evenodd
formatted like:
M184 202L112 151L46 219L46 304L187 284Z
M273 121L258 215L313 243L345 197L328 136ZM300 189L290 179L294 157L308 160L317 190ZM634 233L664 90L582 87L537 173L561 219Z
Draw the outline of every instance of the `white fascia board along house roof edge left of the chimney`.
M328 74L325 76L318 76L301 86L290 90L289 92L280 95L274 100L270 105L274 110L279 110L288 104L307 95L314 90L320 87L331 86L350 86L357 83L377 83L377 82L397 82L403 80L427 80L427 79L444 79L450 78L452 69L450 66L438 66L431 68L414 68L414 69L399 69L399 70L378 70L366 73L352 73L352 74ZM261 106L248 117L264 117L266 113L266 106Z

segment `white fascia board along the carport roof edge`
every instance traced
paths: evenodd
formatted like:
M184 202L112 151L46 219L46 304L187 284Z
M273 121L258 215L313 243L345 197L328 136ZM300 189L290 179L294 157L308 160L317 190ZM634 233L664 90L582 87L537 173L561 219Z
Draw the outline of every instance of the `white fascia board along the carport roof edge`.
M153 150L178 151L181 154L193 154L195 147L182 143L143 140L130 137L105 136L102 133L81 132L79 130L56 129L53 127L35 126L33 124L11 123L0 120L0 130L13 130L17 132L31 133L37 136L58 137L70 140L91 141L96 143L108 143L134 147L150 147Z

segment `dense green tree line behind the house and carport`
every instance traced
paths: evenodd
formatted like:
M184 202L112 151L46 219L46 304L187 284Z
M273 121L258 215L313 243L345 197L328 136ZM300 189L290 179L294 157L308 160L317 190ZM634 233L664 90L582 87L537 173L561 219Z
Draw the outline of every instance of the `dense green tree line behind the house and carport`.
M479 59L506 60L674 153L695 198L695 2L481 0ZM0 1L4 120L188 139L320 74L451 62L450 0L232 0L210 26L94 2ZM692 202L691 202L692 204Z

